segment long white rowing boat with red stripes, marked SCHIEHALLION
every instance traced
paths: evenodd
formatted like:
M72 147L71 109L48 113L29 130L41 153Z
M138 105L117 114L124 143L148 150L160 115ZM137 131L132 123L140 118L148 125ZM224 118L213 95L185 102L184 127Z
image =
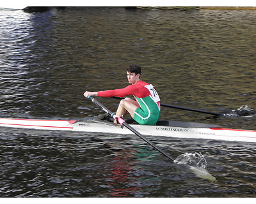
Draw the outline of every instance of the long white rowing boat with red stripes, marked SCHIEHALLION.
M243 129L227 129L197 122L178 122L159 120L155 126L132 124L132 128L142 135L167 136L173 138L200 138L227 140L239 142L256 142L256 131ZM61 131L83 131L95 133L131 134L123 126L114 124L111 120L101 120L97 117L86 117L81 120L38 120L38 119L0 119L0 126L10 128L29 128Z

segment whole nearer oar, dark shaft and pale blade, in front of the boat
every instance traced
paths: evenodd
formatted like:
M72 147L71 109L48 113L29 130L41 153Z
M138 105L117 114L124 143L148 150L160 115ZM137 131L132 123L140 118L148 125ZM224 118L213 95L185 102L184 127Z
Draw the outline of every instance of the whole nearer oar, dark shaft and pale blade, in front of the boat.
M109 115L111 115L111 117L113 117L114 119L117 119L120 124L125 126L127 129L131 130L135 135L139 136L142 140L144 140L149 145L154 147L154 149L156 149L157 151L161 152L164 156L166 156L168 159L170 159L172 162L174 162L174 159L170 155L168 155L163 150L159 149L154 143L152 143L150 140L145 138L145 136L141 135L138 131L136 131L136 129L132 128L132 126L127 124L124 119L122 119L121 117L117 117L117 115L115 115L115 113L113 113L110 110L108 110L108 108L106 108L104 105L102 105L99 101L97 101L92 96L88 96L88 98L91 99L92 102L95 103L97 106L100 106L100 108L102 110L104 110L104 112L106 112ZM211 181L215 181L216 180L216 178L212 177L212 175L210 173L208 173L206 170L202 170L202 169L196 168L194 166L189 166L189 168L190 168L191 171L193 171L200 178L208 179L208 180L211 180Z

